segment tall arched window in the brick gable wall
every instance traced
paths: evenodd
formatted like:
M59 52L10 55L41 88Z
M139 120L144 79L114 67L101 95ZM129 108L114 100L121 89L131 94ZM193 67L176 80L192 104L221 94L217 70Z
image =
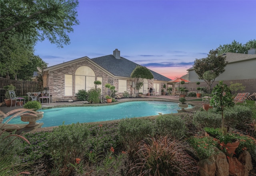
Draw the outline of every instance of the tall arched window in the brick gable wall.
M80 66L75 73L75 93L94 88L95 73L89 66Z

